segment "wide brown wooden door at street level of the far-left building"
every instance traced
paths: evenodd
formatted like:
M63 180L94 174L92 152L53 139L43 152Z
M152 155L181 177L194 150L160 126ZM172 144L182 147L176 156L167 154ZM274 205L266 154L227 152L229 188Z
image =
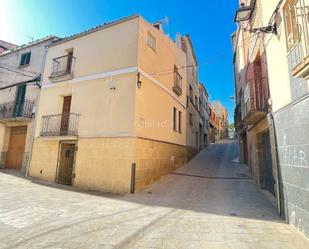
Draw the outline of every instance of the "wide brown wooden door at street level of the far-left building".
M11 128L9 148L6 157L6 168L20 170L26 145L27 126Z

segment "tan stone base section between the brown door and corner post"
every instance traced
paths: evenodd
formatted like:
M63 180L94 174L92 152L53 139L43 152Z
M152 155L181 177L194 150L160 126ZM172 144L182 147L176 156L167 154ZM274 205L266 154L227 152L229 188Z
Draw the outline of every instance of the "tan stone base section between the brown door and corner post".
M133 162L132 138L79 139L73 185L128 193Z

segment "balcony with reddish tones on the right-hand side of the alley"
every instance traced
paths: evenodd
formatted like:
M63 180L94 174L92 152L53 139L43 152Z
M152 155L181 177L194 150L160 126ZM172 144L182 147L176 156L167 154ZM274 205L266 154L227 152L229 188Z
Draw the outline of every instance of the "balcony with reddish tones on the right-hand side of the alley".
M248 125L259 122L268 111L269 91L264 78L250 80L245 88L241 118Z

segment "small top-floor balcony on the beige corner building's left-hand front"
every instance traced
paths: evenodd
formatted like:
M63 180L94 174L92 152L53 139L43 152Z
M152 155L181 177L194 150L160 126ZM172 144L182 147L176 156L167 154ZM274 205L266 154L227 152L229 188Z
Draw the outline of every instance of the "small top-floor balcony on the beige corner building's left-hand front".
M52 82L70 80L74 77L73 70L76 58L73 55L65 55L53 59L52 71L49 79Z

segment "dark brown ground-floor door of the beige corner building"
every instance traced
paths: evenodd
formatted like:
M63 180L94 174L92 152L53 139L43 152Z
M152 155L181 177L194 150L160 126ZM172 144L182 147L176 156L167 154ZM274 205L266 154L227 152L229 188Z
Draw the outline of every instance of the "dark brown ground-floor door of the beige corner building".
M57 183L71 185L75 144L61 143Z

